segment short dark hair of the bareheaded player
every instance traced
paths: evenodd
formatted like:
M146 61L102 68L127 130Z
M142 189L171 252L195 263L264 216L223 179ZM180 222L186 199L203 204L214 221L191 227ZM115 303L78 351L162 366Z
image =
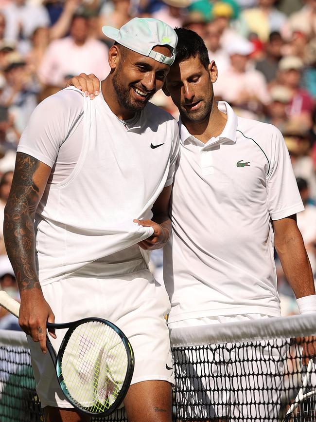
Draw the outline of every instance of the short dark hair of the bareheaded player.
M208 69L210 58L203 39L191 29L175 28L178 36L176 45L176 63L189 58L199 58L205 69Z

